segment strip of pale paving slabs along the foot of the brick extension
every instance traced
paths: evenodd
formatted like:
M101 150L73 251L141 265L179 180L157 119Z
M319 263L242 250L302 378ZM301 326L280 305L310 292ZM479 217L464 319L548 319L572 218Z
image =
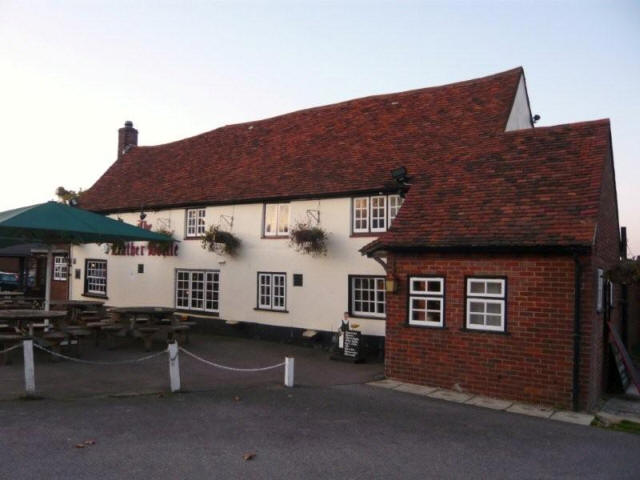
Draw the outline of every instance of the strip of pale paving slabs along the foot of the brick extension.
M512 402L510 400L485 397L482 395L473 395L456 390L447 390L445 388L400 382L390 378L368 382L367 385L377 388L385 388L387 390L397 390L398 392L408 393L410 395L434 398L445 402L460 403L474 407L487 408L490 410L502 410L517 415L546 418L557 422L572 423L574 425L588 426L591 425L595 419L595 415L591 415L589 413L554 410L552 408L539 405L530 405L526 403Z

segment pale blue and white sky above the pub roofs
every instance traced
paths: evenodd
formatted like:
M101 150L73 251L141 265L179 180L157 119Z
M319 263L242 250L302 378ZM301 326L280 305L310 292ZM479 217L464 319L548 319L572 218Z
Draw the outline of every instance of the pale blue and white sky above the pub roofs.
M640 1L0 0L0 211L89 188L140 145L525 69L538 125L610 118L640 255Z

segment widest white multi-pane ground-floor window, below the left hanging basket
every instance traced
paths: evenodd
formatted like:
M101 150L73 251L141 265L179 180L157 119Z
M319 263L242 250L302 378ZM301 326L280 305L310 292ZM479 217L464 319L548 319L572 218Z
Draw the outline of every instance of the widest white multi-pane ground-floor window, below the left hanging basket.
M176 308L218 313L220 311L220 272L176 270Z

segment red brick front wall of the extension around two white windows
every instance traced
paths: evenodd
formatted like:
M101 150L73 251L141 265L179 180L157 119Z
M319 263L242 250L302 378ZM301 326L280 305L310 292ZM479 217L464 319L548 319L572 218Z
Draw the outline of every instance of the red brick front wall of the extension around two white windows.
M387 297L388 377L571 407L572 257L430 253L394 254L389 261L399 289ZM407 325L407 276L427 274L445 277L442 329ZM507 277L506 334L462 330L465 276L482 275Z

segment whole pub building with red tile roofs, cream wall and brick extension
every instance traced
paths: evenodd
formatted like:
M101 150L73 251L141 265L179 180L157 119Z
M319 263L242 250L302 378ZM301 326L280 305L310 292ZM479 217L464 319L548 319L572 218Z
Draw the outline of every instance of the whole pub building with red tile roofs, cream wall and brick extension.
M80 205L178 242L72 246L70 298L327 344L346 310L390 378L590 409L619 313L610 124L538 118L516 68L157 146L126 122ZM211 227L233 254L202 247Z

